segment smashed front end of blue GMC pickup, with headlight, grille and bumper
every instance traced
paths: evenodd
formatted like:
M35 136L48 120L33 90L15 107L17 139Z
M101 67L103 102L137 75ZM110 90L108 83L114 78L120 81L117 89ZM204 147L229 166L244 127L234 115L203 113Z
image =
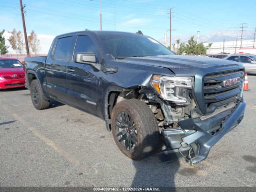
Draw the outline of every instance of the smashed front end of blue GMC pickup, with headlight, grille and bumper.
M233 79L234 84L223 84ZM242 121L243 82L244 69L232 66L200 70L194 78L153 76L159 95L147 97L160 104L161 134L168 148L158 154L160 160L185 158L194 164L207 158L211 147Z

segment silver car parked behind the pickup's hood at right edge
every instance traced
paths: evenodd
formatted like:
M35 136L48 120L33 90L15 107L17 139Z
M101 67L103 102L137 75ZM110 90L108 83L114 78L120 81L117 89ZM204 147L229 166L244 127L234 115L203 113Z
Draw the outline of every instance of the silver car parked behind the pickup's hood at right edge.
M239 62L244 66L245 72L256 73L256 56L254 55L229 55L222 59Z

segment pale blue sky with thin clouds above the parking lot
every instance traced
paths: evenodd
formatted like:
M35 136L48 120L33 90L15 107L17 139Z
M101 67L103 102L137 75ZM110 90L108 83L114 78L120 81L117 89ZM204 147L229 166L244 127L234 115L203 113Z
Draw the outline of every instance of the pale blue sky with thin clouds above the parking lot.
M19 0L0 0L0 29L21 30ZM58 35L78 30L100 30L100 0L23 0L26 4L27 32ZM102 0L102 30L137 32L160 39L169 29L172 35L209 34L240 23L256 27L255 0ZM229 29L236 30L236 29ZM248 28L248 30L252 30ZM169 32L167 32L169 33Z

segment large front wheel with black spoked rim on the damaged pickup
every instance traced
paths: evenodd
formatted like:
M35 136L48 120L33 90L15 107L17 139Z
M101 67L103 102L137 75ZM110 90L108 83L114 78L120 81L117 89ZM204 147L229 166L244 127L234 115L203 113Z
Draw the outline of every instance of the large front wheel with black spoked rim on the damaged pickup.
M111 130L118 148L133 160L149 156L158 147L158 122L152 110L140 100L124 100L114 106Z

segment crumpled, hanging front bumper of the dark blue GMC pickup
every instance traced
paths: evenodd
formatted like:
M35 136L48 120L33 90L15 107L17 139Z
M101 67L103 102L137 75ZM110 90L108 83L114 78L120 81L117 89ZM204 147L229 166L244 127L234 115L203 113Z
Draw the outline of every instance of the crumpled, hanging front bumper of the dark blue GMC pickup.
M179 122L179 128L163 130L164 142L170 150L161 152L158 157L162 161L168 161L168 158L173 161L175 158L186 157L191 163L206 159L211 147L242 121L245 108L246 102L242 101L232 112L221 112L207 120L193 120L192 118L182 120ZM218 122L222 124L221 129L212 135L209 132L209 126L214 126ZM186 135L183 130L196 130L196 132ZM191 149L194 153L192 156L190 156Z

